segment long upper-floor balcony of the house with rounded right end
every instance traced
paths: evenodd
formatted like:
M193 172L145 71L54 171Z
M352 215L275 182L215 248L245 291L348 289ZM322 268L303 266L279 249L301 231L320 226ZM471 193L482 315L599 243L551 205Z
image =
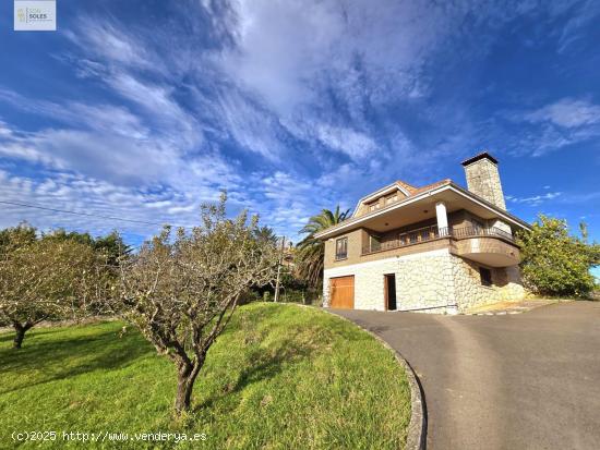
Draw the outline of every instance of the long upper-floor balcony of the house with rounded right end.
M519 263L519 250L511 233L495 227L437 228L423 227L398 234L397 239L377 242L371 236L363 246L362 255L386 252L395 248L418 245L437 239L449 238L457 241L452 253L487 264L504 267Z

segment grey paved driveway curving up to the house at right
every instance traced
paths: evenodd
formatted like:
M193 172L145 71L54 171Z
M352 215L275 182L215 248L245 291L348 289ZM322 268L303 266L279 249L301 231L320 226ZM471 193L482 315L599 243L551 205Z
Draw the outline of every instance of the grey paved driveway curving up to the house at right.
M506 316L336 313L412 365L428 449L600 448L600 302Z

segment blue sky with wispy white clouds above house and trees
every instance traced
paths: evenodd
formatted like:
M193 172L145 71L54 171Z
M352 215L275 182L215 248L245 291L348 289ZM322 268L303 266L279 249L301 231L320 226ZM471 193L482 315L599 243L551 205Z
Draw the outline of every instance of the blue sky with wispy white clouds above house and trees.
M465 184L500 160L507 207L600 240L598 1L72 1L57 32L0 3L0 205L140 243L200 205L298 240L395 180Z

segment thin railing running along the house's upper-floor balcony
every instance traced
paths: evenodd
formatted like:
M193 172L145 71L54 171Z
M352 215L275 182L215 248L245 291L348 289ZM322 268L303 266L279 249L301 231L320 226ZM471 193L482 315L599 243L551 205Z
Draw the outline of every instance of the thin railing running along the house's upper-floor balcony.
M387 250L420 244L440 238L465 239L477 236L501 238L514 242L514 238L511 233L495 227L437 228L437 226L432 226L400 233L397 239L384 242L377 242L371 236L369 244L362 248L362 254L368 255L370 253L385 252Z

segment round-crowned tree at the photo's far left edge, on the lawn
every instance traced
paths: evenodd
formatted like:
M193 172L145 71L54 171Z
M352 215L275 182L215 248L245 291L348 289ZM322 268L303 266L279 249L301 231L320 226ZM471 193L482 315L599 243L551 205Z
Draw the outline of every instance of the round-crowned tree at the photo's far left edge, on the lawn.
M89 245L36 239L31 230L4 230L0 245L0 323L14 327L15 349L43 320L85 315L108 280Z

